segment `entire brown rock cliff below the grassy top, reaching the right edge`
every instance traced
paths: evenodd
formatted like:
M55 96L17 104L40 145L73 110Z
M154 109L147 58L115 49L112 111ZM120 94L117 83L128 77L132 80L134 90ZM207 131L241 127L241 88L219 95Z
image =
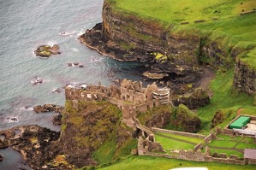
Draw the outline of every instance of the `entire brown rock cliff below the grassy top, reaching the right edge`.
M212 38L216 32L197 28L204 21L194 21L193 28L179 30L177 26L188 23L161 21L116 6L115 1L104 1L103 22L80 36L81 43L122 62L151 62L151 73L168 73L176 77L176 84L198 87L206 65L229 69L234 67L235 58L248 50L229 43L227 38ZM243 74L238 66L236 63L235 87L253 94L255 88L246 85L252 81L238 79ZM251 69L248 64L244 66ZM255 81L250 74L245 76Z

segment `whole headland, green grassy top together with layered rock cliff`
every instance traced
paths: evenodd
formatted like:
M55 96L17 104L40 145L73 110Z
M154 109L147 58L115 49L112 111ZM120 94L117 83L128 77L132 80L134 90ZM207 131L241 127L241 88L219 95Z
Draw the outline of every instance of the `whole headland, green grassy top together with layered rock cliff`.
M254 94L256 3L187 1L184 5L105 0L103 22L87 30L80 41L122 62L150 62L152 73L168 73L178 79L176 83L193 87L199 86L203 67L235 66L235 87Z

